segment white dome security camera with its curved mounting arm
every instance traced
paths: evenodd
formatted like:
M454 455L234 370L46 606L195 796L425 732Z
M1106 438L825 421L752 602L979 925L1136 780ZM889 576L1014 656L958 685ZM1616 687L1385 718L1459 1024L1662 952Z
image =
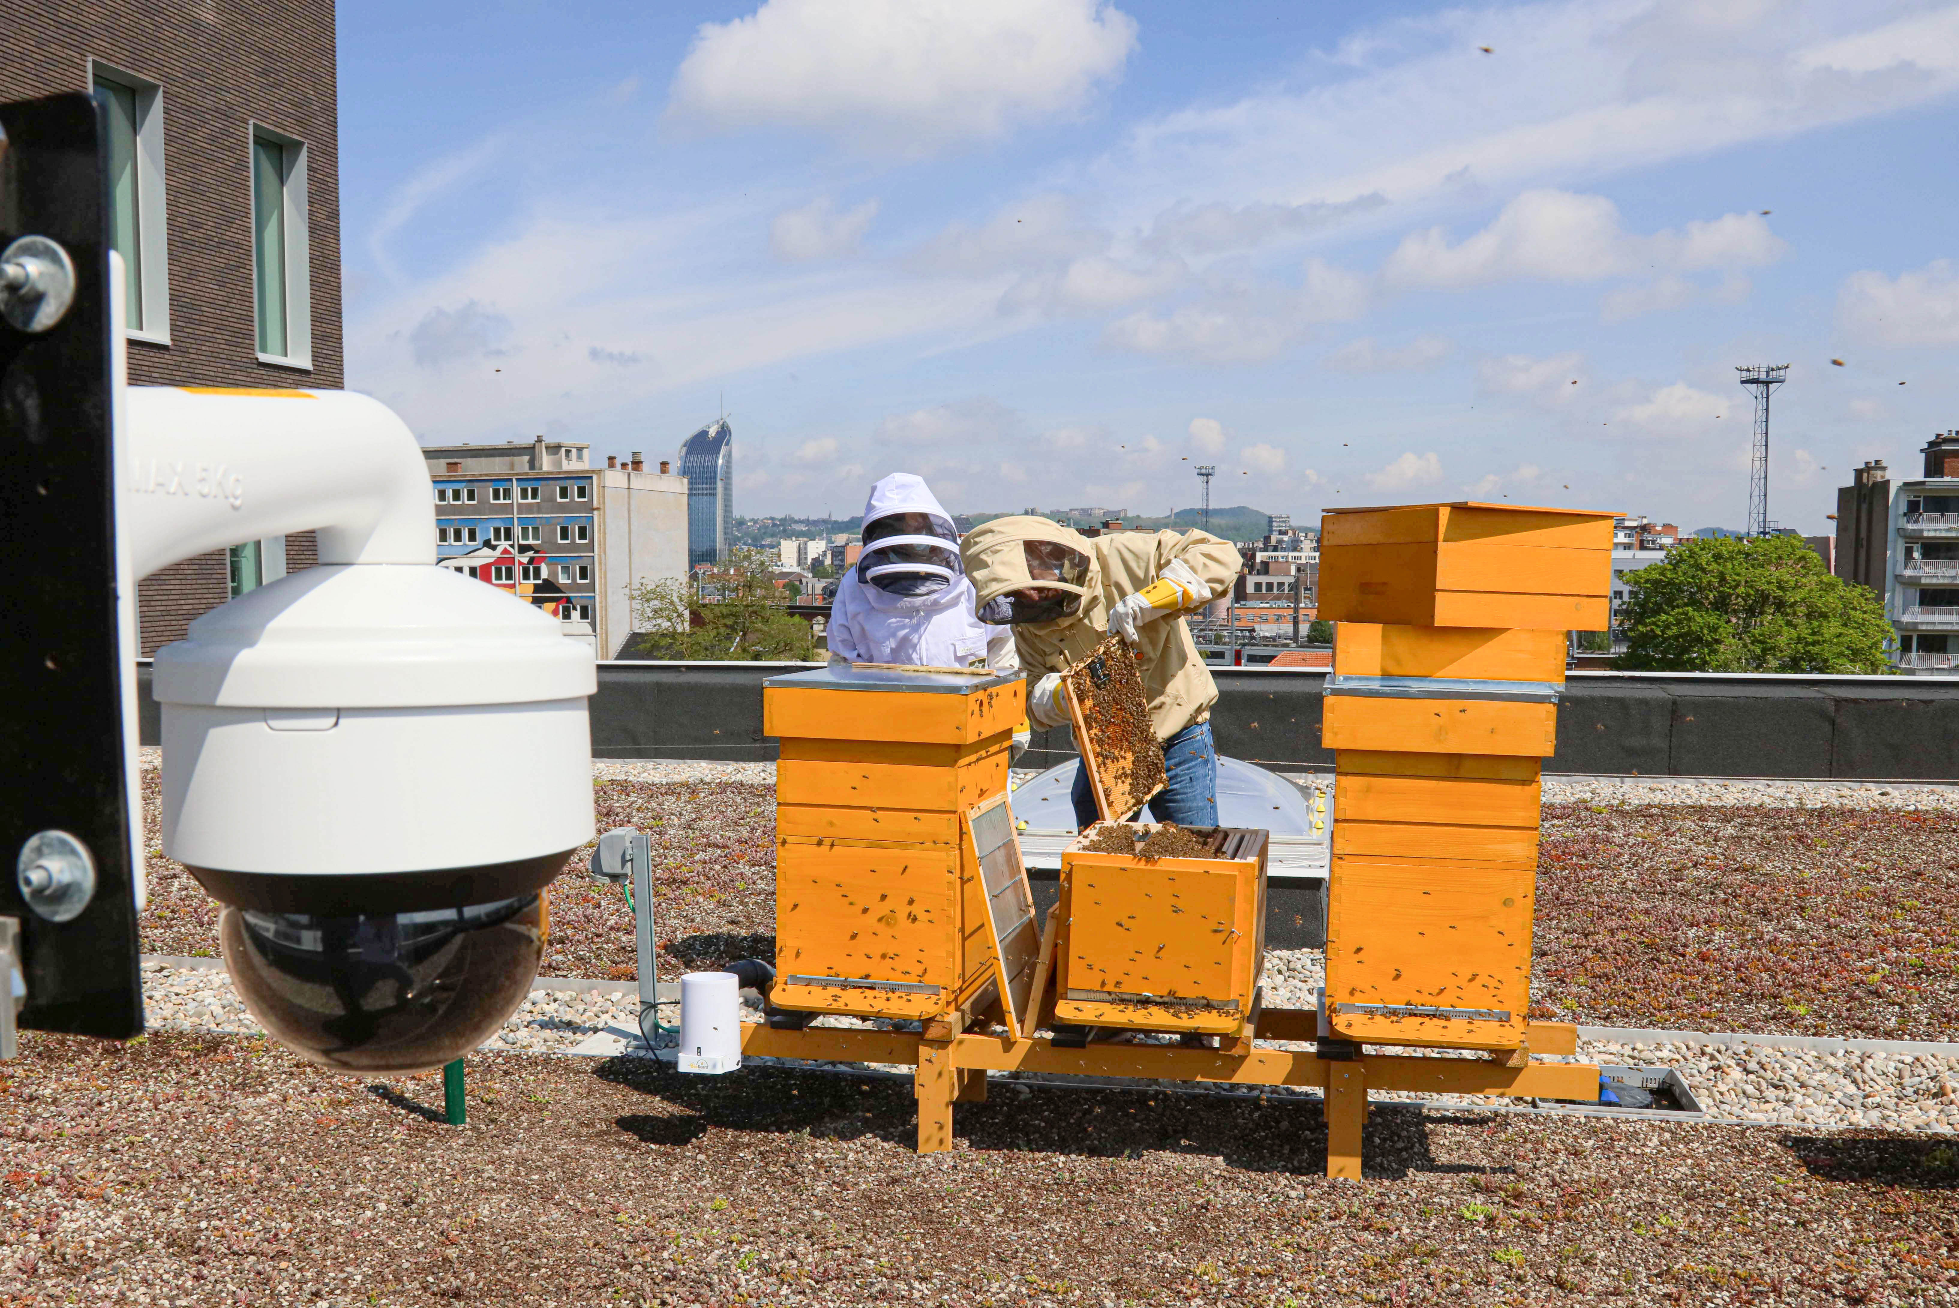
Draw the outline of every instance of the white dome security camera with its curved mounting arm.
M225 905L225 967L282 1044L460 1057L529 993L543 891L592 840L592 650L435 566L421 450L374 399L116 390L125 578L319 540L157 654L165 854Z

